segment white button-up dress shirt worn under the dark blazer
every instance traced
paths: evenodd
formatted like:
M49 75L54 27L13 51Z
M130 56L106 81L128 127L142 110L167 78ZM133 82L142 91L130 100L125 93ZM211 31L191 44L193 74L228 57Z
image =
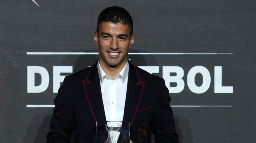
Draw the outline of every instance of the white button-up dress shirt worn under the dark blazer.
M129 63L127 61L124 68L113 79L102 70L99 62L97 66L106 120L122 121L128 83ZM116 127L118 126L119 125L116 125ZM114 134L116 134L116 137L111 139L115 143L117 142L120 132ZM113 133L111 133L111 135L114 136Z

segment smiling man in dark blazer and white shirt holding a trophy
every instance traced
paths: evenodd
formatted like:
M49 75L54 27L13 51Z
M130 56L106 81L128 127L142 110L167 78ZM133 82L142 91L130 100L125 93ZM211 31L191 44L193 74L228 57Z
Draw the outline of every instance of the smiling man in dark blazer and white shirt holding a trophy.
M156 143L178 143L163 78L128 61L134 43L130 14L121 7L104 9L94 40L99 60L65 77L54 100L47 142L68 143L74 131L77 143L95 143L96 121L129 121L130 143L150 143L151 131Z

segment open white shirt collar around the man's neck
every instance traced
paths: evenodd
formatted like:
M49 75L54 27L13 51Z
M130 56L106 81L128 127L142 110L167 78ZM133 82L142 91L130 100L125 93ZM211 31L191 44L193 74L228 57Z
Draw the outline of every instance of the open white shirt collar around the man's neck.
M99 61L98 61L97 67L98 67L98 74L99 74L99 77L100 77L100 83L102 83L102 79L104 77L108 77L109 79L111 79L110 76L108 76L103 71L103 69L100 66L100 62ZM129 72L129 63L127 61L126 64L124 65L124 68L122 68L122 70L119 72L119 74L117 74L117 76L115 76L113 79L115 79L115 78L120 76L121 79L122 79L122 83L124 83L124 80L128 77L128 72ZM113 80L113 79L111 79L111 80Z

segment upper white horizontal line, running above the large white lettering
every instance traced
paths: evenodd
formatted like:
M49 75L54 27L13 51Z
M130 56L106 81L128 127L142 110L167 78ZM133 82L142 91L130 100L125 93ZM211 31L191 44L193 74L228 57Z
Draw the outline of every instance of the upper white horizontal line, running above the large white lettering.
M26 52L27 55L93 55L98 52ZM130 55L233 54L232 52L129 52Z

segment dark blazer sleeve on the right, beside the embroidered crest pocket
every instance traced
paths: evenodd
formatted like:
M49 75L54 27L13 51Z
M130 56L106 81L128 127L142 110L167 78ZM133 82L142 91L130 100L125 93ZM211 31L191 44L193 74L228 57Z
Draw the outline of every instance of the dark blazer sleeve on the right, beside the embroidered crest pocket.
M169 91L161 78L155 108L152 110L151 127L155 143L178 143L170 101Z

